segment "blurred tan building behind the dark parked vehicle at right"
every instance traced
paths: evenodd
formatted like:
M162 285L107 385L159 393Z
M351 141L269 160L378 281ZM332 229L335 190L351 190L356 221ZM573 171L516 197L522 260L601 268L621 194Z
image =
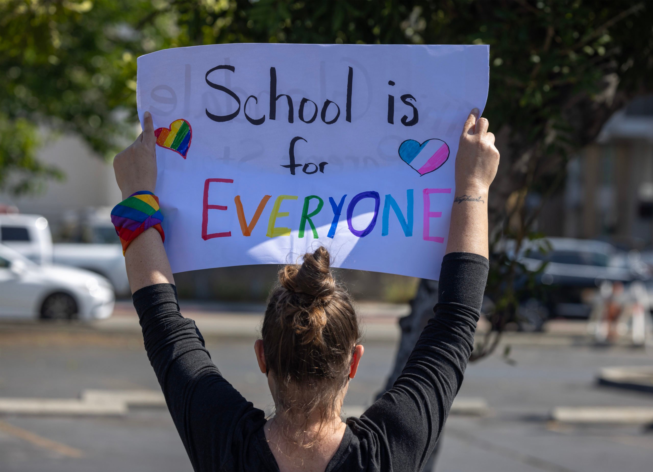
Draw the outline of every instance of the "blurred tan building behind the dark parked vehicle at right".
M653 245L653 97L614 114L597 142L569 162L558 205L564 227L555 235Z

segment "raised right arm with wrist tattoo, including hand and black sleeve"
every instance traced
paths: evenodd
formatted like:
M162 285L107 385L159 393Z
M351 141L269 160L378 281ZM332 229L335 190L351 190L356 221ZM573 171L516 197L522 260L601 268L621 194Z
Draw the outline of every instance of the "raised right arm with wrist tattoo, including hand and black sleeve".
M435 316L422 331L394 386L352 429L379 441L382 470L421 471L462 384L473 348L488 272L488 188L499 163L494 135L472 110L456 156L456 194Z

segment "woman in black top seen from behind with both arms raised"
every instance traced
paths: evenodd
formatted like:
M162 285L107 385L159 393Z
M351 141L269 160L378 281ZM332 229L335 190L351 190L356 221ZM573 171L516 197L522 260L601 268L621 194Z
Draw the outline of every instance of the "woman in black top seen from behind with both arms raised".
M340 418L364 348L327 249L285 265L270 294L254 346L275 404L266 418L221 375L195 322L180 313L159 230L129 243L125 263L145 348L196 471L422 470L460 389L488 273L487 199L499 152L478 115L472 110L460 136L434 316L392 388L360 418ZM143 132L114 160L123 199L153 195L155 140L146 112Z

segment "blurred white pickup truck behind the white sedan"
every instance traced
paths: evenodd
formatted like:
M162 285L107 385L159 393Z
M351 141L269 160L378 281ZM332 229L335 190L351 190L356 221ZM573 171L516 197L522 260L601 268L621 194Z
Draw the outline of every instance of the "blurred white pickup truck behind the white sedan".
M53 244L48 220L37 214L0 214L0 243L41 265L56 263L93 271L108 278L117 295L130 293L119 243Z

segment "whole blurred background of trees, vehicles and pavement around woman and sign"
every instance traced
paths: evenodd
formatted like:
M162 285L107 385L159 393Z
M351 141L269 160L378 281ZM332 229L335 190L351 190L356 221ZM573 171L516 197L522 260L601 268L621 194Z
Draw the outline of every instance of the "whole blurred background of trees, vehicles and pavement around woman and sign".
M0 469L191 469L109 219L120 200L111 160L139 132L136 58L306 42L490 45L485 114L502 155L490 277L473 362L428 467L650 470L652 7L0 0ZM268 412L252 345L277 270L175 276L221 372ZM436 298L414 278L338 274L366 329L343 412L358 415Z

